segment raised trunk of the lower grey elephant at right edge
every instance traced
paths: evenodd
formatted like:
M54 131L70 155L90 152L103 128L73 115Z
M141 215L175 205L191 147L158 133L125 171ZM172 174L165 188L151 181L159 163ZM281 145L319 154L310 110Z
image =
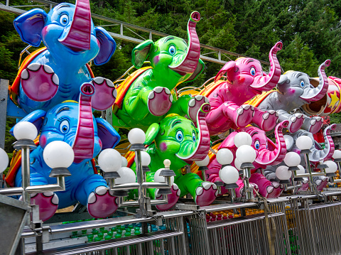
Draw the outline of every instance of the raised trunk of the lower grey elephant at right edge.
M323 131L323 136L325 138L325 148L318 150L313 146L310 148L309 160L312 162L328 161L332 158L332 154L335 151L334 142L332 141L332 136L330 136L330 129L335 130L336 124L327 126Z

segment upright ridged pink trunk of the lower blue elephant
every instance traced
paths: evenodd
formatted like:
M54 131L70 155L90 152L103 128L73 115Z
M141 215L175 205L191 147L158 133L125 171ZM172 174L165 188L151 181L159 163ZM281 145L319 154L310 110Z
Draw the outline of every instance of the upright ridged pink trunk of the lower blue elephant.
M75 153L74 163L80 163L94 154L94 121L92 117L91 97L94 85L83 83L80 87L80 107L75 141L72 145Z

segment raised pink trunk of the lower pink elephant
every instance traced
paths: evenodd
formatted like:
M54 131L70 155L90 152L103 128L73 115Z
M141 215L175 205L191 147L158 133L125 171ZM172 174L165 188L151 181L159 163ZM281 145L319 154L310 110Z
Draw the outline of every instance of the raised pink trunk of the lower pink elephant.
M282 121L275 128L276 148L274 151L262 150L259 152L256 163L260 165L277 165L281 163L286 156L286 141L283 138L283 128L286 128L289 121Z

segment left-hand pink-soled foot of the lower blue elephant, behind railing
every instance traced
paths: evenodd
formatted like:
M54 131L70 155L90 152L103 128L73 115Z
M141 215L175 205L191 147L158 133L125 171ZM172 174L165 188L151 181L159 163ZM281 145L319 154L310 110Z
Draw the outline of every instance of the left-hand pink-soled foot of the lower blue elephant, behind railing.
M21 196L19 200L23 200ZM39 205L39 218L45 222L55 215L58 209L59 199L54 192L31 194L31 205Z

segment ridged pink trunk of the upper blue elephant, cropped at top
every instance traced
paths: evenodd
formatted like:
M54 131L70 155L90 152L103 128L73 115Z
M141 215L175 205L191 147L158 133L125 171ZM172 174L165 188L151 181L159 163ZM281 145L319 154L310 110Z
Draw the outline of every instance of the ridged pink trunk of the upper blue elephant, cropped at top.
M89 0L77 0L70 30L60 41L74 51L90 50L91 11Z

